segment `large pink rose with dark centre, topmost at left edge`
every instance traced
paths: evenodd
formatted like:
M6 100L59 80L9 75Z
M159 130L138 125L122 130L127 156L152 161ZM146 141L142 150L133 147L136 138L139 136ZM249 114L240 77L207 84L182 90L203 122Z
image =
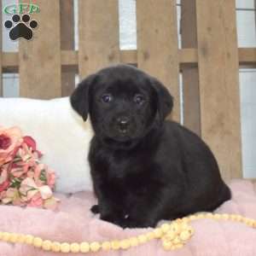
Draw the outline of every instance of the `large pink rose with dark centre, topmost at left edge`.
M18 127L0 127L0 166L14 158L15 150L21 143L22 134Z

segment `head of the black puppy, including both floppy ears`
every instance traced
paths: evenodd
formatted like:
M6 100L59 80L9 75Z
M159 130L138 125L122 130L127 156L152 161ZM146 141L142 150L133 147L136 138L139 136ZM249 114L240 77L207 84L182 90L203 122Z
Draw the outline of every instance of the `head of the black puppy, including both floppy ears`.
M172 111L172 96L157 79L136 67L107 67L84 79L70 98L96 136L128 142L142 138Z

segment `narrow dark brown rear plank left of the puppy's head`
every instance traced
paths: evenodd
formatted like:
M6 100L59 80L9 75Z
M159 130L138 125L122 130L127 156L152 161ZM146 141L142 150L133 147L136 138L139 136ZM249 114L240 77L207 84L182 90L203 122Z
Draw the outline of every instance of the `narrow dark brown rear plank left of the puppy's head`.
M61 49L74 49L73 0L61 0ZM75 72L61 71L61 96L70 96L75 88Z

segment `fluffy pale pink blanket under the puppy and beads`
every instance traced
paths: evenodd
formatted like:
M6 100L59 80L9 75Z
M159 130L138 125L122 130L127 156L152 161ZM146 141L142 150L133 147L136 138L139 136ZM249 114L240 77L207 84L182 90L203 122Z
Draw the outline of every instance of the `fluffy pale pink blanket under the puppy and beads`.
M256 218L256 189L253 183L234 180L230 183L233 198L216 212L237 213ZM148 230L122 230L93 217L90 206L95 202L90 192L74 195L57 195L61 199L59 212L35 208L0 207L0 230L32 234L51 241L108 241L123 239ZM87 253L86 255L256 255L256 230L245 224L231 221L200 219L191 222L195 235L181 249L166 252L161 241L132 247L127 251ZM9 244L0 241L0 256L61 255L46 253L23 244ZM69 254L66 255L84 255Z

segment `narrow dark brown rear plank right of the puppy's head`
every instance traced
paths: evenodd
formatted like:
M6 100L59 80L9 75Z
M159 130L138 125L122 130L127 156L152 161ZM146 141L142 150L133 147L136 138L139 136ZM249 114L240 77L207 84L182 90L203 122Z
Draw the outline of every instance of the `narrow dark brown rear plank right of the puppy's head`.
M196 48L195 0L182 0L182 47ZM183 119L184 125L201 135L200 93L198 67L182 68L183 73Z

